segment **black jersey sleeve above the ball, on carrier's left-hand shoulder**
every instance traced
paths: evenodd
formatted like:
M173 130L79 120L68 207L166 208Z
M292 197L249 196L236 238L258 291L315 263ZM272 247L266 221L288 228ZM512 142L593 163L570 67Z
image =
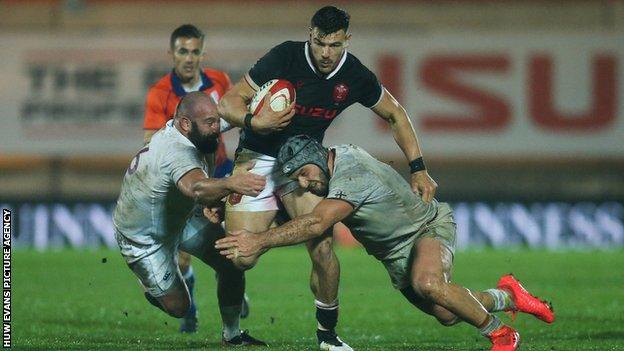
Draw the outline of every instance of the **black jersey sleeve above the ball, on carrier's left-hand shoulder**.
M251 67L245 75L245 79L252 88L258 90L262 84L282 76L289 62L287 43L282 43L271 49Z

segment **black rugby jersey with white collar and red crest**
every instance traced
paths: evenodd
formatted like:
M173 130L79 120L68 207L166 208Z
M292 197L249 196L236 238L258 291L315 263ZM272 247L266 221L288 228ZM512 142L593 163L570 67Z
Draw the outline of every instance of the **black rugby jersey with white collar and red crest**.
M307 42L284 42L256 62L245 76L256 90L271 79L286 79L296 90L296 113L284 130L260 135L243 130L239 148L276 157L280 146L293 135L306 134L319 142L325 130L347 107L358 102L373 107L381 99L377 77L360 60L346 52L327 76L316 72Z

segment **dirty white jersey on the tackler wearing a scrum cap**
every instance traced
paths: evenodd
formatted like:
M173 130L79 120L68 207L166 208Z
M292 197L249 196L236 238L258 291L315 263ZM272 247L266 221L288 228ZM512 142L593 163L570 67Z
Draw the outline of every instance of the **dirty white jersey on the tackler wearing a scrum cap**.
M425 203L389 165L355 145L333 146L336 158L328 199L351 203L353 212L342 222L366 251L390 259L436 216L438 202Z

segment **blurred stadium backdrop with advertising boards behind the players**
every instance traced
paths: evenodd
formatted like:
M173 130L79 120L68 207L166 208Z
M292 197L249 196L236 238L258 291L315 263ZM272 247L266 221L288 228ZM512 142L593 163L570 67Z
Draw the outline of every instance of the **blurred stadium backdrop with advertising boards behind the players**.
M0 204L15 214L21 274L37 276L58 250L120 262L107 251L116 247L110 213L142 141L147 88L170 69L172 29L202 28L205 64L236 81L273 45L305 40L310 16L324 4L0 2ZM466 255L485 247L563 255L556 257L602 269L588 275L614 278L621 292L621 272L585 258L604 255L618 269L624 263L624 2L337 4L352 15L349 50L410 113L437 197L454 205ZM226 134L230 154L236 140L235 131ZM370 111L352 107L334 122L326 144L347 142L407 175ZM577 260L579 250L597 254ZM128 278L118 266L113 276ZM624 309L621 296L610 298L611 309ZM621 342L622 319L613 322Z

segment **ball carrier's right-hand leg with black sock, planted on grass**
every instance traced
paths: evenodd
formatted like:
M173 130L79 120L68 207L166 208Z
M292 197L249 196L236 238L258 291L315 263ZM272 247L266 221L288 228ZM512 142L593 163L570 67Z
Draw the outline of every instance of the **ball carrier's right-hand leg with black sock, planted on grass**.
M280 189L281 199L291 217L308 214L322 200L301 188L286 185ZM317 339L321 349L351 350L336 334L338 324L338 282L340 264L333 250L332 230L306 243L312 261L310 289L315 297Z

